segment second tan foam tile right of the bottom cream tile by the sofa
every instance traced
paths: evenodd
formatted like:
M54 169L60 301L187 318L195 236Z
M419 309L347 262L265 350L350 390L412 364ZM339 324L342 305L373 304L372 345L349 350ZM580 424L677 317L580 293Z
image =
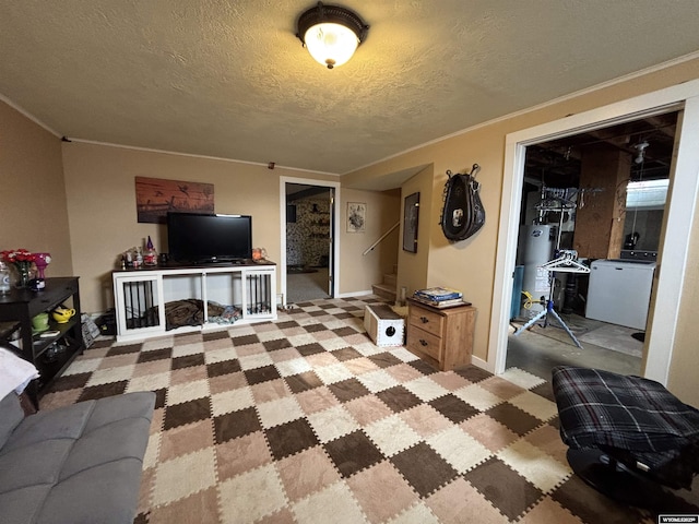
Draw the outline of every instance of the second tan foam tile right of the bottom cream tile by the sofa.
M282 458L275 466L292 502L320 491L341 478L321 446Z

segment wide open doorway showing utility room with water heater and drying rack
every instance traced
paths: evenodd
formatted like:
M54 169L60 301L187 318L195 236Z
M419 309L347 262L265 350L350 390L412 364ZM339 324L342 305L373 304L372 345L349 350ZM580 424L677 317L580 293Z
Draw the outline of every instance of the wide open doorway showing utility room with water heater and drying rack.
M526 148L506 367L641 374L677 116Z

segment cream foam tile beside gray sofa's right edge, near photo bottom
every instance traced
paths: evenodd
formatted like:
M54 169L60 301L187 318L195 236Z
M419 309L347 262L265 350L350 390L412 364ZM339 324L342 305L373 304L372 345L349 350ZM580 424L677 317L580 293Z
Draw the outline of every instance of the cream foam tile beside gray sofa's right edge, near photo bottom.
M215 467L213 448L158 463L153 486L153 504L167 504L215 486Z

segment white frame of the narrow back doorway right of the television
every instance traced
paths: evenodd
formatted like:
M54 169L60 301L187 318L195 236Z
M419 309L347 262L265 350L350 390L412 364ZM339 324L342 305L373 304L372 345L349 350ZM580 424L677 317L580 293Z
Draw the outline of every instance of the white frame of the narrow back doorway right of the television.
M333 189L334 196L332 201L331 216L334 217L331 224L330 230L330 262L329 272L332 275L332 297L336 297L340 293L340 221L337 219L340 213L340 182L332 182L329 180L316 180L312 178L296 178L296 177L280 177L280 253L281 261L280 267L280 293L283 296L283 306L286 306L286 184L287 183L301 183L305 186L318 186L321 188Z

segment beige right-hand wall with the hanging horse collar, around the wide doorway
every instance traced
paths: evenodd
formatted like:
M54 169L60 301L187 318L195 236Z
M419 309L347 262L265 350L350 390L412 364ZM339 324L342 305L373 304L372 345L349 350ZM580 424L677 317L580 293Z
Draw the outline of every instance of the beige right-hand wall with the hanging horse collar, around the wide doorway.
M346 175L343 180L358 183L362 180L383 177L387 174L403 171L414 166L434 165L431 211L429 216L425 216L426 213L420 212L420 221L426 219L431 225L427 282L425 285L448 285L462 289L464 296L474 303L478 309L474 356L486 360L488 358L488 332L495 284L495 260L497 254L499 207L502 195L506 136L516 131L562 119L569 115L602 107L697 78L699 78L699 60L684 62L413 150ZM461 242L449 243L438 224L442 209L441 191L447 180L446 171L450 169L454 172L463 172L464 169L470 169L474 163L482 166L478 180L482 183L481 196L486 210L486 224L474 237ZM404 271L406 270L399 267L399 273ZM699 279L699 266L694 264L689 272L688 282L696 283ZM674 349L673 376L670 383L676 394L682 394L687 398L686 402L691 400L699 404L699 389L696 386L689 388L688 374L680 377L682 372L677 370L676 366L676 362L683 362L684 366L680 367L684 369L691 365L691 368L697 370L697 364L699 362L696 344L689 343L699 338L699 324L691 322L690 313L684 308L685 303L694 305L696 299L692 297L691 288L686 287L686 297L678 297L682 300L684 313L679 319L678 329L682 335L678 341L684 342L679 343ZM502 326L502 329L506 329L506 326Z

